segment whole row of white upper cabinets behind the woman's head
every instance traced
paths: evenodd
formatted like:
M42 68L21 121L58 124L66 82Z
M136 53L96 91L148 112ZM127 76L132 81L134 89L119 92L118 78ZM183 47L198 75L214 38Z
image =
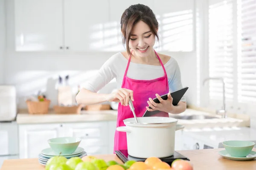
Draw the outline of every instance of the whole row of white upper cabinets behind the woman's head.
M126 8L149 6L159 21L157 51L192 51L193 0L14 0L16 51L122 51ZM160 44L160 47L159 47Z

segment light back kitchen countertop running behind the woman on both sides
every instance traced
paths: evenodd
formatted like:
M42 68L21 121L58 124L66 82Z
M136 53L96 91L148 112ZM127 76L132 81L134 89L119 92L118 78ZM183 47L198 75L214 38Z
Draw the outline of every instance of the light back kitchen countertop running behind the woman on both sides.
M172 114L169 114L170 117ZM244 115L242 118L228 117L221 119L220 115L209 113L206 111L198 111L187 108L182 115L210 115L216 119L178 119L178 124L185 125L185 129L190 128L206 128L206 127L245 127L250 126L250 119ZM81 114L55 114L49 111L48 114L29 114L27 111L20 111L17 114L17 124L40 124L40 123L69 123L69 122L93 122L93 121L116 121L117 111L81 111Z

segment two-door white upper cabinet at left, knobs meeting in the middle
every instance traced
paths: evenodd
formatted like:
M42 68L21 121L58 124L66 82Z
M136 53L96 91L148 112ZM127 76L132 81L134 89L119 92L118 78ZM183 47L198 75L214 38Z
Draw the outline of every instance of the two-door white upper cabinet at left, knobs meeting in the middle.
M106 14L105 0L15 0L15 49L104 51Z

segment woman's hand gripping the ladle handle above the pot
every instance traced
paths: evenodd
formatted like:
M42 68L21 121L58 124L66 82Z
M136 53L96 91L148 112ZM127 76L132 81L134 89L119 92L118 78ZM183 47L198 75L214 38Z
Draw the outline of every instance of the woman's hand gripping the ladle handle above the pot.
M128 106L129 100L134 101L133 91L127 88L120 88L116 91L113 91L111 94L108 94L108 102L121 102L121 105Z

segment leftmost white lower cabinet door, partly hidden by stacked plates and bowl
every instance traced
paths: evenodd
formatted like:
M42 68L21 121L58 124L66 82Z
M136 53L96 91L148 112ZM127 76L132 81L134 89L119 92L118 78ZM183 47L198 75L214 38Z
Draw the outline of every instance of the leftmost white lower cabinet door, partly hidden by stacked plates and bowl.
M61 125L19 125L20 159L38 158L38 154L50 147L47 140L60 137Z

